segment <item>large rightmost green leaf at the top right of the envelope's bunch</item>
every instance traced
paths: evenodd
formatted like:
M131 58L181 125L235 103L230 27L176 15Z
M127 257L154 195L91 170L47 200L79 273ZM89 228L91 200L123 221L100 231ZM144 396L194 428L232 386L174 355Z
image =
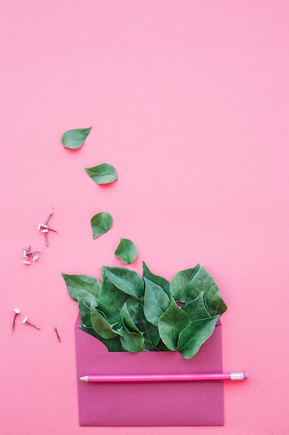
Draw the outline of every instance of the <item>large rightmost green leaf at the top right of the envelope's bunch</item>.
M204 266L201 266L193 277L192 286L189 291L189 297L194 299L201 291L204 292L204 302L210 315L221 315L227 310L225 302L220 296L220 290L211 275Z

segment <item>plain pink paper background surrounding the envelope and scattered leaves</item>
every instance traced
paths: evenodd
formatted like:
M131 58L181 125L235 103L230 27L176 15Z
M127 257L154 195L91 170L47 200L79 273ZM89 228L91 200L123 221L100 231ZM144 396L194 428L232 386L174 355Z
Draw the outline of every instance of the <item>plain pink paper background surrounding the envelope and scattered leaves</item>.
M288 23L286 0L3 2L1 434L288 434ZM119 181L89 179L100 163ZM52 206L59 233L24 265ZM99 211L114 225L93 240ZM78 307L60 272L100 278L119 237L139 272L200 262L216 279L224 369L250 375L225 384L224 427L78 427Z

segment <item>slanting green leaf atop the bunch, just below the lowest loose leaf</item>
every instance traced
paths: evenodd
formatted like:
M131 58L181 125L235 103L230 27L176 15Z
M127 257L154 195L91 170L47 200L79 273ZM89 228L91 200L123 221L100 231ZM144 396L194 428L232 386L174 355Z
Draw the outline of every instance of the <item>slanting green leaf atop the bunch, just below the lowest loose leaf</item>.
M103 266L103 270L112 284L123 292L137 297L137 299L143 295L143 279L137 272L134 272L134 270L125 268L108 268L107 266Z

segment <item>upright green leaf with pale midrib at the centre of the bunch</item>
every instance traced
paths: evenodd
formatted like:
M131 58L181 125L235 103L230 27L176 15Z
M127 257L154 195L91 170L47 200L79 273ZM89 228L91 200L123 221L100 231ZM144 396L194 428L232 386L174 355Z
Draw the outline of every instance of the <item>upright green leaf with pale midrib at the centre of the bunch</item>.
M143 313L146 320L157 327L159 318L170 305L170 299L160 286L147 278L143 278L143 281L146 284Z

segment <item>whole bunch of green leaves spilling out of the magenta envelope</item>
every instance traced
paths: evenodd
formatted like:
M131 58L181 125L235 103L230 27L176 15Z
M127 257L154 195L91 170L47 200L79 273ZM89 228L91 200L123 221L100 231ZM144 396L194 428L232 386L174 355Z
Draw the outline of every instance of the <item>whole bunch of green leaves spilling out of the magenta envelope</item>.
M169 282L143 263L143 275L103 266L101 283L63 274L78 302L83 331L110 351L178 351L191 359L211 336L227 306L204 266L177 272Z

